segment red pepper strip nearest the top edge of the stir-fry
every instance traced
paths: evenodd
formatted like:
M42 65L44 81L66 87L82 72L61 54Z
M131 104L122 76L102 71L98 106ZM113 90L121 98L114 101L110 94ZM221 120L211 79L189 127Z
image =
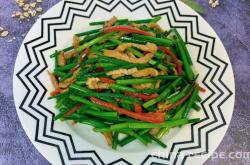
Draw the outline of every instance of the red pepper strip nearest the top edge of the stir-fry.
M110 27L104 28L103 31L104 31L104 33L126 31L126 32L137 33L137 34L141 34L141 35L145 35L145 36L152 36L152 33L143 31L141 29L138 29L138 28L132 27L132 26L122 26L122 25L110 26Z

